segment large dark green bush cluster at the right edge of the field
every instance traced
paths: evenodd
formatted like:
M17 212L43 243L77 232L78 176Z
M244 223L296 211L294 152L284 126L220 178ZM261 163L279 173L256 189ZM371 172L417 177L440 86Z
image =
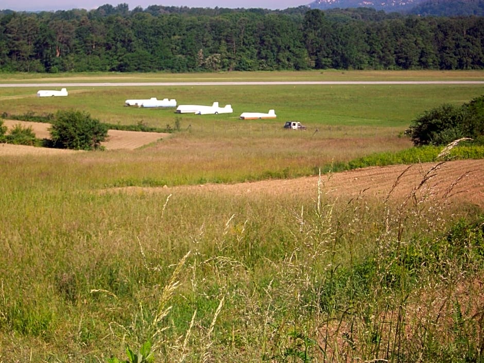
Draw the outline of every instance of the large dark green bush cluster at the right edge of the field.
M484 135L484 96L461 107L441 105L424 112L406 131L414 145L445 145L462 137L481 140Z

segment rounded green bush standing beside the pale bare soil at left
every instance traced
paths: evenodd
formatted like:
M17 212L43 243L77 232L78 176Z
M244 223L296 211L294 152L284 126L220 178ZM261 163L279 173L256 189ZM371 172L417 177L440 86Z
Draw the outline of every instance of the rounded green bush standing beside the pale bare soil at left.
M54 146L65 149L99 149L108 136L107 125L82 111L58 111L49 130Z

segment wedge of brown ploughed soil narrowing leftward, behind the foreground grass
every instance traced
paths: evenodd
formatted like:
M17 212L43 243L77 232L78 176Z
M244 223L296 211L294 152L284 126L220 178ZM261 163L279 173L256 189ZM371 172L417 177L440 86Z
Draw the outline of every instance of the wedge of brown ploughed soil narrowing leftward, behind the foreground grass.
M126 187L114 188L119 192L146 193L220 193L232 196L263 195L318 196L334 200L340 198L376 198L384 202L387 198L420 202L465 201L484 207L484 160L459 160L444 163L415 165L392 165L368 167L351 171L327 174L319 177L304 177L284 180L266 180L238 184L204 184L178 187Z

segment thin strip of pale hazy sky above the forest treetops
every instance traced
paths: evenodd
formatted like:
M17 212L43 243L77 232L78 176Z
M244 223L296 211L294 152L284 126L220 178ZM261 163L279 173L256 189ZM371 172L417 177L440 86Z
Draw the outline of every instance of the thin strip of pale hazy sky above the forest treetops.
M188 6L191 8L265 8L287 9L307 5L313 0L2 0L0 10L71 10L97 9L101 5L128 4L132 10L137 6L146 9L150 5Z

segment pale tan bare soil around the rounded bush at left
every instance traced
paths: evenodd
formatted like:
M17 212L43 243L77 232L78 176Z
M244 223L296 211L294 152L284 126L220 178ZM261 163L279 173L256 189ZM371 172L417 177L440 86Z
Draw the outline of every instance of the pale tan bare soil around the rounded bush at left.
M28 121L19 121L19 120L4 120L5 126L8 129L11 129L15 125L21 124L23 127L31 127L32 131L36 134L38 139L48 139L50 137L50 133L48 131L50 124L39 123L39 122L28 122ZM146 144L153 143L157 140L164 139L168 137L169 133L161 133L161 132L139 132L139 131L120 131L120 130L109 130L108 131L108 140L103 142L101 145L104 146L107 150L115 150L115 149L136 149L142 147ZM20 154L20 153L59 153L66 152L68 150L56 150L56 149L46 149L39 151L37 149L41 149L38 147L17 147L17 145L9 145L9 148L5 148L5 150L0 149L0 155L3 155L4 152L8 154ZM14 149L17 149L18 152L14 152ZM8 150L7 150L8 149ZM35 149L35 150L33 150ZM71 150L72 152L72 150Z

